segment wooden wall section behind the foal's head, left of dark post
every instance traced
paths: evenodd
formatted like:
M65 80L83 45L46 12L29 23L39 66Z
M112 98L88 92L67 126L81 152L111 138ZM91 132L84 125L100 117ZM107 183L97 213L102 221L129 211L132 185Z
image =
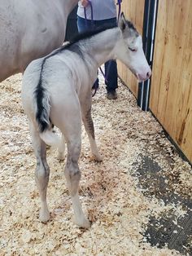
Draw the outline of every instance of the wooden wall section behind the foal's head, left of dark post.
M124 0L122 2L122 11L124 11L126 19L132 21L137 28L137 31L141 34L144 4L145 0ZM123 82L129 86L129 89L133 92L133 95L137 97L137 79L120 61L118 61L118 74Z

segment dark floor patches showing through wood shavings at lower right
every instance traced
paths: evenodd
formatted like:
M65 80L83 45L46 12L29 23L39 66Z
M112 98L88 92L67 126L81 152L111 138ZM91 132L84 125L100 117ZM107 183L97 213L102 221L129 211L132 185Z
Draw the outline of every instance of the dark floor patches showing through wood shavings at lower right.
M177 218L176 214L168 211L162 216L150 217L146 232L143 234L146 241L159 248L168 246L177 249L181 254L192 255L192 201L186 195L181 195L169 186L170 177L162 170L155 159L142 157L142 163L137 167L136 175L139 184L144 189L145 196L155 196L163 200L165 205L180 204L186 214ZM171 164L171 163L170 163ZM171 178L177 182L177 177Z

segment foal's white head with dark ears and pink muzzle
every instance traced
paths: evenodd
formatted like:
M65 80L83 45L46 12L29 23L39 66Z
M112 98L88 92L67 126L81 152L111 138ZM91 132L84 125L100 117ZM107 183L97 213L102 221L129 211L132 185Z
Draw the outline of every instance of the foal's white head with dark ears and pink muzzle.
M121 37L117 42L116 57L132 71L137 80L145 81L151 77L151 68L142 50L142 37L133 24L125 20L123 13L120 15L118 26Z

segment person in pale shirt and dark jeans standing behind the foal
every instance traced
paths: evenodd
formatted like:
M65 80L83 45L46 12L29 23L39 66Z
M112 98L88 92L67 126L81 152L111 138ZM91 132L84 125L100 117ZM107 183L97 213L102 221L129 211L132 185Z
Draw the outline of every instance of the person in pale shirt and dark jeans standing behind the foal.
M97 29L105 25L116 25L116 3L114 0L81 0L77 9L77 29L80 33L90 29ZM117 64L116 60L109 60L105 63L105 81L107 99L116 99L117 85ZM98 78L94 83L98 88Z

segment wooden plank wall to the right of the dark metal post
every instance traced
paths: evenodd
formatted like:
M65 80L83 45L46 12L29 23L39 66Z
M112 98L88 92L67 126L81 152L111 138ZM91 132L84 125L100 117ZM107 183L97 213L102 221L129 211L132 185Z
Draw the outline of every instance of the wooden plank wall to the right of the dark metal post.
M192 1L159 1L152 113L192 162Z

